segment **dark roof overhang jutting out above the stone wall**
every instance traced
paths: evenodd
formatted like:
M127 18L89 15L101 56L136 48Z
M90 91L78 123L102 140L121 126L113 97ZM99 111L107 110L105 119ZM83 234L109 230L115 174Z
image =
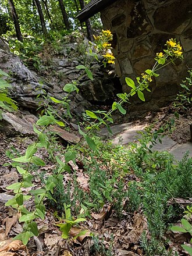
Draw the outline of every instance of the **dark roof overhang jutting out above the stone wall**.
M77 15L77 19L79 19L80 22L84 22L116 1L117 0L92 0L81 10L79 15Z

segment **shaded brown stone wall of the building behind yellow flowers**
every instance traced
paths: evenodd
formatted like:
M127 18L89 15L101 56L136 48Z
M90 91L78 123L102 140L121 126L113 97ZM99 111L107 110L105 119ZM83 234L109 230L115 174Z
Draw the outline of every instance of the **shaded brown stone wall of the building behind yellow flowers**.
M113 33L116 73L123 91L125 77L134 77L152 67L154 56L165 42L176 38L184 51L184 62L177 61L159 73L151 83L152 93L145 93L146 103L138 108L159 108L176 95L179 84L192 68L192 1L191 0L118 0L101 12L104 29ZM134 103L140 103L136 97Z

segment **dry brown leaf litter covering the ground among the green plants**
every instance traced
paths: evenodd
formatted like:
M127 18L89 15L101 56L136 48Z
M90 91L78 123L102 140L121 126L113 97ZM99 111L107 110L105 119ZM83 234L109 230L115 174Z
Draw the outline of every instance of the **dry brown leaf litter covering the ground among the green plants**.
M173 134L173 136L175 136ZM9 162L10 160L2 154L5 148L8 148L8 138L2 134L3 143L0 145L1 160L2 163ZM31 139L30 139L31 140ZM15 137L12 140L12 145L16 148L18 152L24 152L23 148L24 140L22 143L20 138ZM26 147L30 142L26 143ZM45 152L38 152L38 156L44 159L48 159L48 155ZM51 161L47 161L48 165L41 168L41 171L47 172L45 176L49 175L55 168L55 164ZM83 164L79 161L79 164L74 165L73 162L69 163L70 168L76 173L77 184L84 191L89 192L90 177L87 173L83 171ZM1 175L6 174L4 182L0 183L0 189L3 193L8 193L5 187L12 180L11 177L15 172L15 169L10 167L0 166ZM6 173L5 173L6 172ZM9 175L10 173L10 175ZM35 173L33 173L35 175ZM20 179L20 177L14 174L14 179ZM134 176L134 173L131 174ZM67 186L70 182L73 182L72 177L69 174L65 175L66 179L63 184ZM129 175L127 175L127 180L129 180ZM134 176L134 179L137 179ZM2 180L2 176L1 179ZM131 179L132 180L132 179ZM6 183L6 184L5 184ZM40 179L37 180L35 186L40 187ZM0 190L0 192L1 192ZM26 191L27 192L27 191ZM73 191L71 191L71 194ZM9 191L10 193L10 191ZM172 198L168 201L168 204L191 204L191 198L189 200L184 200L183 198ZM1 205L1 201L0 201ZM33 205L31 205L33 207ZM22 228L18 222L18 215L9 215L9 211L4 211L5 207L1 207L1 227L0 227L0 256L11 256L11 255L63 255L63 256L91 256L91 248L93 247L92 236L98 236L99 239L104 238L104 246L106 248L110 247L111 237L113 236L113 254L119 256L144 256L143 249L140 247L140 237L143 231L150 239L150 233L148 232L148 226L145 216L142 212L134 212L133 215L125 216L126 218L119 221L113 216L113 205L104 205L102 210L98 213L91 212L93 218L87 219L83 223L83 226L74 226L70 230L70 238L64 240L61 238L61 232L59 228L54 225L54 209L49 209L44 221L38 220L38 228L40 230L40 235L38 236L38 243L41 243L43 251L37 251L37 241L31 239L29 244L23 246L22 242L19 240L12 241L12 237L18 234ZM2 212L3 210L3 212ZM3 218L2 218L3 217ZM82 230L86 230L86 233L82 236L77 236ZM76 237L77 236L77 237ZM169 246L171 248L178 247L178 244L182 244L183 241L187 243L189 241L186 238L186 234L166 232L166 236L170 237ZM75 239L74 239L75 237ZM184 252L183 252L184 254ZM100 256L102 254L94 254L95 256Z

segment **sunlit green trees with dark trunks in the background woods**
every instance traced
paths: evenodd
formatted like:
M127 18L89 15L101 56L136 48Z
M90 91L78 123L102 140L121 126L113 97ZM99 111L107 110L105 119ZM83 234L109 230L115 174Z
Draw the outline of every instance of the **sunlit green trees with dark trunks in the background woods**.
M85 29L91 40L91 26L101 27L99 15L96 19L80 24L77 14L88 0L2 0L0 3L0 35L16 36L23 41L23 35L44 34L52 31ZM91 23L90 23L91 22ZM86 27L85 27L86 25ZM68 32L67 32L68 31Z

